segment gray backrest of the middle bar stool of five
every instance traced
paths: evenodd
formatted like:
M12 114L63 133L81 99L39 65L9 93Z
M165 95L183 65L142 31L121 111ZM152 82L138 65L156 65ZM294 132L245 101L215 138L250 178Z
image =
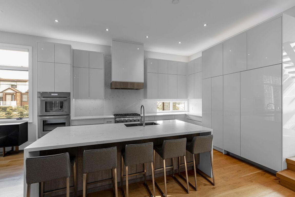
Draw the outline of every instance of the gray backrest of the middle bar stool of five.
M153 162L153 142L128 144L125 146L124 163L126 166Z

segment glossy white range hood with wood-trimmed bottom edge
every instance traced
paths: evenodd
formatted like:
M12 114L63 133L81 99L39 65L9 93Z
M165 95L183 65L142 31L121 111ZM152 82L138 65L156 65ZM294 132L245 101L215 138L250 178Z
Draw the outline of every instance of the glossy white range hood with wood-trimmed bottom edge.
M111 89L143 89L143 44L112 40Z

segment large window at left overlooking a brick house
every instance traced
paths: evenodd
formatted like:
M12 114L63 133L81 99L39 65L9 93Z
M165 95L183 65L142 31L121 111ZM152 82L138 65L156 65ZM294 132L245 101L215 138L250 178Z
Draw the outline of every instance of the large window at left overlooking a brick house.
M0 43L0 121L28 118L32 47Z

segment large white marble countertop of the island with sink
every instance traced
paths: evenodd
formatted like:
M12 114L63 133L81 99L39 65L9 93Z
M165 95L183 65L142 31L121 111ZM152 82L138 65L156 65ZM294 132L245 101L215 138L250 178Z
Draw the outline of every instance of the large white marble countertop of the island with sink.
M126 127L124 123L81 125L55 128L25 148L40 151L120 141L178 136L192 133L212 132L211 128L179 121L153 121L158 125Z

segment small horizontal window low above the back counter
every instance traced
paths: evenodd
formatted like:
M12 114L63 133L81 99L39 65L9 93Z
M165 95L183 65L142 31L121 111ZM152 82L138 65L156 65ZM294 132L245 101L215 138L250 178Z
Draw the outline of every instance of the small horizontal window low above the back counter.
M157 112L186 111L186 101L158 101Z

